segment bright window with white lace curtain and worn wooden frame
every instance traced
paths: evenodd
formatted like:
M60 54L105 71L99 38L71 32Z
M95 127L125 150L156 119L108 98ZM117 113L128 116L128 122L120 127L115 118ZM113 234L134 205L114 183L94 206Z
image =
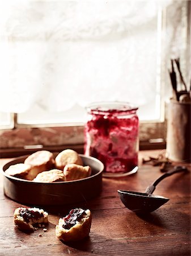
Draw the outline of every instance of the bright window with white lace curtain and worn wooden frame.
M141 141L165 139L169 60L180 57L190 76L189 10L189 1L6 3L1 148L82 144L84 106L105 100L139 106Z

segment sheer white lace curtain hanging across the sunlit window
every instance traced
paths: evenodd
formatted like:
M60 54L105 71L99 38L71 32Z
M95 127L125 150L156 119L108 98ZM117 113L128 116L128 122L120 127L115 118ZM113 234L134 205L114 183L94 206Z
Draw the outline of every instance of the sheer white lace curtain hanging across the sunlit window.
M3 112L26 112L34 103L54 111L105 100L146 104L157 90L158 11L174 10L166 49L180 26L181 1L1 5Z

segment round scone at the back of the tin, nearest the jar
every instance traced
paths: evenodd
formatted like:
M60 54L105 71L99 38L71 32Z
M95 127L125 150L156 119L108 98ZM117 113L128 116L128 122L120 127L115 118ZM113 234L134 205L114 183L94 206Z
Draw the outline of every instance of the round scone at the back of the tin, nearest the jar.
M82 158L80 158L76 151L71 149L63 150L55 158L56 167L60 170L63 170L66 164L69 163L83 165Z

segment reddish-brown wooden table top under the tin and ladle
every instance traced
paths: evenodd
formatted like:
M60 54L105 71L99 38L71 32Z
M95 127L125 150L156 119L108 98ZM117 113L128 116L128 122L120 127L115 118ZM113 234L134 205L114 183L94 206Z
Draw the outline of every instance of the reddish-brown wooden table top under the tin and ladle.
M23 233L13 218L15 208L23 205L3 194L1 174L0 255L190 255L190 164L186 174L174 174L158 184L154 194L170 200L147 216L125 208L117 194L117 189L145 192L162 172L158 166L142 164L141 159L158 154L158 150L140 151L137 174L103 178L99 197L73 206L90 209L92 225L88 238L69 244L58 240L55 226L72 206L44 208L49 212L47 232L40 228ZM0 159L0 166L10 160Z

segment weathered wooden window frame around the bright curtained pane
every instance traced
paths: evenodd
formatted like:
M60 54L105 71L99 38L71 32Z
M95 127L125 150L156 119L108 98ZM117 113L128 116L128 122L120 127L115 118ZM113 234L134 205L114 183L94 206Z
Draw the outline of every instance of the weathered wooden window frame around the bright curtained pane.
M191 39L190 39L190 13L191 13L191 3L186 1L186 18L187 18L187 35L186 35L186 52L185 52L185 62L186 62L186 77L190 76L189 67L191 65L190 60L190 49L191 49ZM161 11L161 23L162 31L165 30L166 22L166 10ZM160 46L163 46L164 38L161 38ZM161 118L158 121L141 121L139 125L139 148L142 149L153 149L153 148L165 148L165 138L167 133L167 105L164 102L164 85L167 84L169 80L169 75L167 73L167 60L164 56L164 49L161 48L160 52L160 71L159 71L159 82L160 82L160 93L161 93ZM169 85L170 86L170 85ZM0 147L0 158L7 156L18 156L23 154L30 154L39 148L52 151L60 151L64 148L73 148L80 153L83 153L83 133L84 133L84 123L57 123L57 124L37 124L37 125L26 125L18 123L18 115L16 113L11 113L11 125L10 127L1 126L0 137L4 138L7 147ZM8 129L7 129L8 128ZM58 135L58 142L53 144L49 142L49 137L46 134L46 129L55 129L61 134ZM18 132L30 135L30 139L24 138L23 141L17 143L16 134ZM39 134L38 138L36 138ZM32 137L32 139L31 139ZM43 139L42 139L43 138ZM59 139L60 138L60 139ZM12 140L12 143L9 141ZM44 143L44 141L48 143Z

